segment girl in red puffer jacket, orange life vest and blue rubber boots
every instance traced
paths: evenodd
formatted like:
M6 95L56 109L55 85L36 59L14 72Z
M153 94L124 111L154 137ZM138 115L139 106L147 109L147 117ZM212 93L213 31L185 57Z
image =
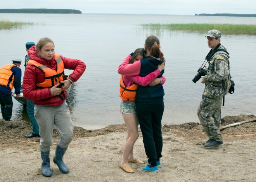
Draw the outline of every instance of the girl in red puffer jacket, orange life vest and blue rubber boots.
M40 39L32 46L28 51L30 60L23 78L23 95L35 104L35 118L41 136L42 175L46 177L52 175L49 153L54 124L59 131L60 140L53 161L61 172L69 172L69 168L62 161L73 139L73 123L65 101L66 90L81 77L86 68L83 61L55 54L54 48L54 42L48 37ZM64 69L74 70L68 79L64 75Z

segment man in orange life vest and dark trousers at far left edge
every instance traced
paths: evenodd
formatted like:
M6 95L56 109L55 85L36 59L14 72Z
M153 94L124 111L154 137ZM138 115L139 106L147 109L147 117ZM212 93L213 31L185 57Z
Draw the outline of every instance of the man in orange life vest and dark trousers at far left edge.
M15 88L16 97L21 95L21 60L14 59L12 64L0 68L0 105L2 117L10 121L12 117L12 89Z

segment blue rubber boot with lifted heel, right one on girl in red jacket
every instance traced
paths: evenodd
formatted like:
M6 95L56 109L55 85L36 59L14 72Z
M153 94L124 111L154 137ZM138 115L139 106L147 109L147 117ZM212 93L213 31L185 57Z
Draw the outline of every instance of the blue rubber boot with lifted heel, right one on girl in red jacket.
M56 146L55 156L54 156L54 163L57 164L61 172L68 173L69 168L63 162L62 158L64 153L66 152L67 148L61 148L59 145Z

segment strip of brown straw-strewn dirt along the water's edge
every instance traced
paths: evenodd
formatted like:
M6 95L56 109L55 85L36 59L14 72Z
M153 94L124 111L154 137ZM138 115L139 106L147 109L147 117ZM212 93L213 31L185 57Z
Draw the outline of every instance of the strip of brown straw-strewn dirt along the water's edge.
M225 116L221 119L221 126L241 122L246 120L256 120L256 116L240 114L238 116ZM140 130L140 129L139 129ZM25 138L24 135L31 133L32 125L26 121L5 121L0 119L0 147L10 147L14 145L38 145L40 137ZM74 139L105 135L114 132L126 132L125 124L109 125L106 128L87 130L74 126ZM201 124L197 122L187 122L184 124L164 124L162 133L166 136L175 136L183 141L195 139L207 139ZM221 131L223 138L256 138L256 122L247 122ZM54 129L54 142L59 139L59 132Z

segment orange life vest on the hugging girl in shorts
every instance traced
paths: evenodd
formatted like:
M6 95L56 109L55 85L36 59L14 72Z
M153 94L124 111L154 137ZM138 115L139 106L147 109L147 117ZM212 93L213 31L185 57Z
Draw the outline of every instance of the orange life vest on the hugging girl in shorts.
M129 87L125 86L125 83L123 82L123 75L121 75L120 78L120 94L119 96L123 100L129 100L129 101L134 101L136 99L136 91L138 89L138 84L134 83Z

